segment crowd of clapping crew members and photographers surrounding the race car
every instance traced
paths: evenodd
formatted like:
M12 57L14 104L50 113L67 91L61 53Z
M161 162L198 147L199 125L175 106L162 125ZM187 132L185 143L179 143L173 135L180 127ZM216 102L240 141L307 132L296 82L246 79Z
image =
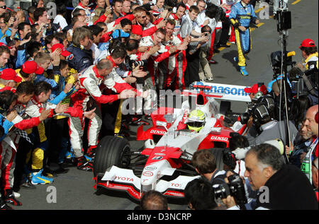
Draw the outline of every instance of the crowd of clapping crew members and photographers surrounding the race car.
M70 11L65 2L55 1L56 16L51 18L46 1L33 1L32 6L23 10L7 7L0 0L0 208L12 209L9 204L21 206L18 201L21 187L34 189L36 184L51 184L57 175L67 172L65 163L92 171L101 137L125 136L123 119L135 124L142 122L138 114L118 116L123 100L141 96L145 118L150 117L152 100L145 91L184 90L194 81L213 81L210 65L217 64L213 54L218 47L236 43L238 57L234 60L240 73L247 76L245 54L251 47L250 25L259 23L254 15L255 1L251 3L250 0L80 0ZM71 13L71 18L68 19L67 13ZM298 71L318 69L318 50L313 40L304 40L301 52L305 63L296 66ZM259 147L280 134L286 135L285 124L278 128L285 118L284 112L280 107L274 109L281 100L277 100L282 92L281 83L284 81L279 78L273 83L272 95L264 85L245 89L254 104L247 107L249 131L242 136L245 144L234 147L233 154L230 153L235 162L233 168L229 164L228 167L243 173L252 184L256 184L252 170L257 163L262 163L264 169L271 167L267 173L262 171L265 178L261 184L285 167L281 163L273 166L262 158L267 157L265 152L274 151L273 156L280 160L278 150L267 144ZM142 92L137 88L139 84ZM290 163L301 168L310 180L303 184L307 192L313 191L311 183L318 191L318 73L316 84L317 88L308 89L313 97L298 95L295 104L291 103L303 118L289 117L291 143L284 142ZM284 134L274 129L282 129ZM247 146L253 147L248 151ZM216 174L226 177L225 171L216 170L213 155L204 157L211 158L206 170L196 160L201 155L194 155L194 164L198 174L206 178L194 180L185 189L192 209L218 207L209 186ZM241 172L234 163L244 164ZM296 169L293 172L300 175ZM304 179L302 175L300 179ZM260 186L263 185L256 184L254 188ZM152 195L160 199L154 192L148 198ZM304 195L309 196L310 204L312 195L310 192ZM234 206L234 199L224 202L228 207ZM281 208L257 202L259 207ZM163 203L167 208L167 202ZM142 204L144 207L147 203Z

